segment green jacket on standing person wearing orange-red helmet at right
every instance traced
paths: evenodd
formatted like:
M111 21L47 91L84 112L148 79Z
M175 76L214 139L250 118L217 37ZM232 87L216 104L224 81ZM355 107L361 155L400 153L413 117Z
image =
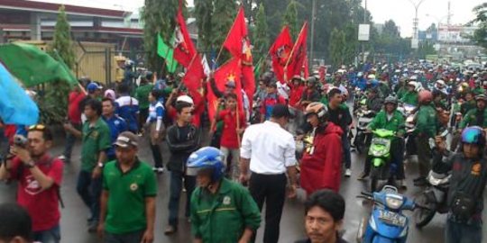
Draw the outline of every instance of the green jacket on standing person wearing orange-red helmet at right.
M416 115L416 134L422 133L429 138L436 136L438 116L432 105L421 105Z

